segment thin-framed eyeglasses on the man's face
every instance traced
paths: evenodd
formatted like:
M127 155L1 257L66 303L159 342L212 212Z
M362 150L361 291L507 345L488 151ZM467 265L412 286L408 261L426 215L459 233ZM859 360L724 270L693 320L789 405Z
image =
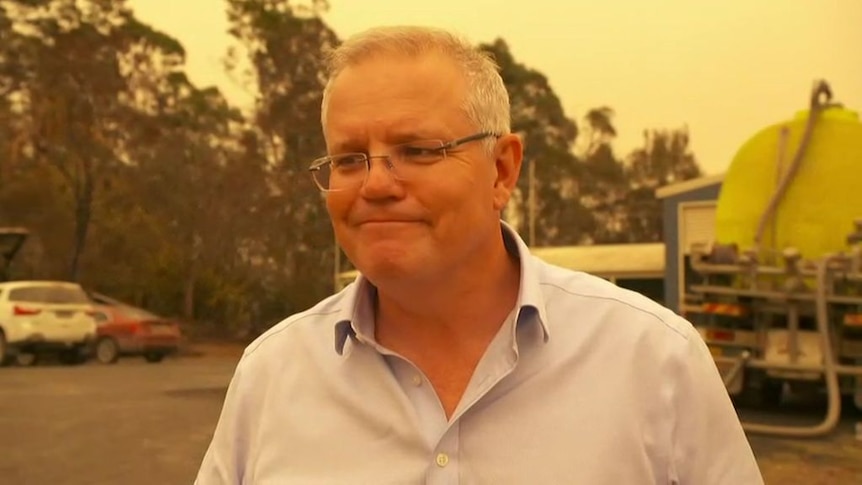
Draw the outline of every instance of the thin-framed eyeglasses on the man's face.
M393 145L388 155L367 153L340 153L321 157L311 163L308 170L314 182L324 192L337 192L360 187L371 171L371 159L386 160L386 168L397 180L421 178L425 169L446 158L449 150L464 143L499 137L494 133L476 133L450 142L417 140Z

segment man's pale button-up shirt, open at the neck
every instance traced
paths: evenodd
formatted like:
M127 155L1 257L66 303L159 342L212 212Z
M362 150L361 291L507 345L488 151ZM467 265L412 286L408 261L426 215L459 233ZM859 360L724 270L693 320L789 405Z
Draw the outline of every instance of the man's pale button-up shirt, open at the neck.
M196 484L763 483L690 323L503 232L518 303L451 419L360 276L246 348Z

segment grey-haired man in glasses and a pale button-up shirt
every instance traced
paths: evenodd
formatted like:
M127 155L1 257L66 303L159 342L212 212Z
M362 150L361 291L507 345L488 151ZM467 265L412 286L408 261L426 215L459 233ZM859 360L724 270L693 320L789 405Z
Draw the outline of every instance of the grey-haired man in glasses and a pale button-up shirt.
M311 171L362 276L248 346L198 484L762 483L693 327L501 222L491 60L393 27L330 67Z

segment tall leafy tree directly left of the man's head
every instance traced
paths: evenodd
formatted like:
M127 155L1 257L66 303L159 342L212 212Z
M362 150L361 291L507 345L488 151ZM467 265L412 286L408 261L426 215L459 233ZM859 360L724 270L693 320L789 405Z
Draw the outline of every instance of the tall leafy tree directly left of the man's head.
M324 51L338 38L317 15L287 1L228 0L231 34L248 54L259 94L254 124L259 156L272 169L273 193L263 211L270 227L265 252L281 270L280 297L305 308L331 291L333 235L306 168L325 153L320 127ZM305 276L309 275L309 276ZM310 275L315 275L314 277Z

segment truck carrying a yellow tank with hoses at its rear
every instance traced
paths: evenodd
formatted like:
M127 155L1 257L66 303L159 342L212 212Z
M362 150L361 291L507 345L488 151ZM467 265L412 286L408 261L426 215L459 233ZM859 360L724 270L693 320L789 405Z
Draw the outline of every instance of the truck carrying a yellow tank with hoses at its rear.
M808 107L737 151L716 202L714 236L689 248L686 317L732 396L780 405L827 399L812 426L743 423L820 436L842 404L862 409L862 122L817 81Z

